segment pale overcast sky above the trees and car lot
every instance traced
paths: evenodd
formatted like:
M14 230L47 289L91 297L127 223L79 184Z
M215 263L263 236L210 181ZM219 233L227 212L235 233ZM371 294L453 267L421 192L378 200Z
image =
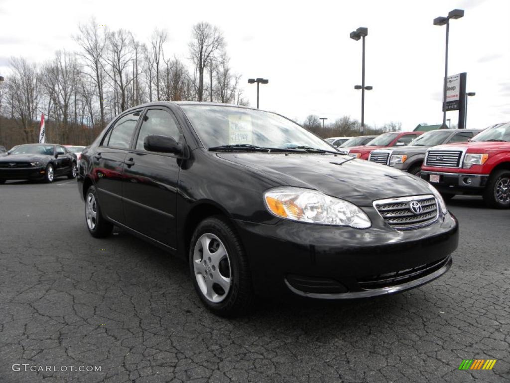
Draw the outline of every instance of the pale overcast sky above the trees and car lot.
M71 35L94 16L110 29L129 29L148 42L166 29L167 55L187 59L191 27L218 26L227 41L244 95L256 106L250 77L264 77L262 109L302 122L309 114L327 122L350 115L361 119L362 43L349 38L358 27L366 38L365 123L390 121L413 130L442 122L441 99L446 27L432 25L452 9L449 75L467 72L468 128L510 121L510 1L34 1L0 0L0 75L11 56L43 62L56 50L74 51ZM451 123L458 112L448 112Z

